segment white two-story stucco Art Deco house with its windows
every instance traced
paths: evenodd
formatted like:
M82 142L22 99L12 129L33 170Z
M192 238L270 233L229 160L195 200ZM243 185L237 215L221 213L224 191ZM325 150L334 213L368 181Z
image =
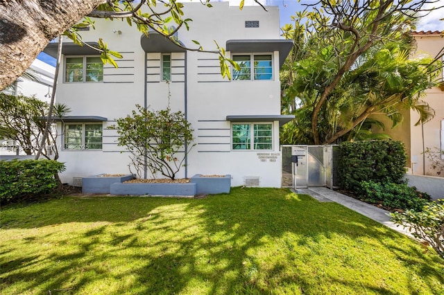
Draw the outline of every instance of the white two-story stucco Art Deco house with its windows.
M62 181L102 173L128 172L128 153L117 146L117 132L108 129L135 105L184 111L194 129L196 146L179 177L231 175L232 186L281 186L279 127L293 116L280 114L280 66L292 42L280 39L278 7L185 3L193 19L177 37L185 46L215 50L216 41L244 71L221 76L218 55L185 51L164 37L149 37L121 21L96 20L96 30L82 32L85 42L102 37L119 51L119 68L101 64L96 51L64 43L62 74L56 99L71 107L58 123ZM55 56L57 44L46 53ZM82 71L76 71L82 69ZM234 130L242 129L242 132ZM236 143L234 143L236 142ZM239 144L241 142L241 144Z

